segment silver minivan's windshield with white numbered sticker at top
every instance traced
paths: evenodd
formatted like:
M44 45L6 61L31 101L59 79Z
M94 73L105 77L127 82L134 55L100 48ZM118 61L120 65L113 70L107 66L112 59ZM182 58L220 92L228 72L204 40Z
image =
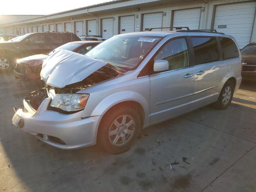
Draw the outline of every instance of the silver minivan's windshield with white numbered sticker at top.
M114 36L93 48L86 56L121 68L135 68L161 39L139 34Z

